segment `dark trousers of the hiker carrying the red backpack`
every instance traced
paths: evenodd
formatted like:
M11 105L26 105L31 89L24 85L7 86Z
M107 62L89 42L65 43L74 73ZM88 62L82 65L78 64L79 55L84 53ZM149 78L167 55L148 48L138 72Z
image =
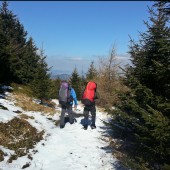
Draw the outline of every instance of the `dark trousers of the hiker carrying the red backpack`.
M84 124L88 126L88 117L89 117L89 112L92 115L92 124L95 125L96 122L96 107L95 105L85 105L84 107Z

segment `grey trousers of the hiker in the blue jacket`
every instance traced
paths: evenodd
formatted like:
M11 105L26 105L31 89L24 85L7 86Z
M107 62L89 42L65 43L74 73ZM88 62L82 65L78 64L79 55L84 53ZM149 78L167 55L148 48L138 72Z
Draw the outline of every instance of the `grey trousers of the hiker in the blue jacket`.
M72 105L61 105L60 126L64 126L65 113L68 112L69 122L73 123Z

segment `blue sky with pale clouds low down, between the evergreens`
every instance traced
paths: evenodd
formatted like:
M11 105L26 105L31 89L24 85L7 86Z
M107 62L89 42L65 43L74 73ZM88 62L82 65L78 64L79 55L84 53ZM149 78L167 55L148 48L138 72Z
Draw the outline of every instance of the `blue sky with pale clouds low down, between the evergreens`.
M149 20L151 1L9 1L9 9L42 46L47 63L58 73L87 71L98 56L116 54L127 62L129 35L138 40Z

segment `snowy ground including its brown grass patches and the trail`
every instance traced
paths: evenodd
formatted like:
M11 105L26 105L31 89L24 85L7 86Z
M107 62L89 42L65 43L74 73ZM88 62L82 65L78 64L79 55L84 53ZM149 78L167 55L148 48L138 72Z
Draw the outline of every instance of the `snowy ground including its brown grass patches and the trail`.
M0 95L0 169L122 169L108 147L104 112L97 109L96 129L84 130L83 106L79 103L74 110L75 123L60 129L60 107L58 100L53 102L55 114L24 111L16 106L12 93Z

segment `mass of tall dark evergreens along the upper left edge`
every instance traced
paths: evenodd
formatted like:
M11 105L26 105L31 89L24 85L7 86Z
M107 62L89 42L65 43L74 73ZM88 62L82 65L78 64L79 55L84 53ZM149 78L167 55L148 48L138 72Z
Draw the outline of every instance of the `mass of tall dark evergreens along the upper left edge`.
M49 97L49 68L43 50L39 55L33 38L27 40L26 36L24 26L3 1L0 7L0 83L30 84L42 101Z

